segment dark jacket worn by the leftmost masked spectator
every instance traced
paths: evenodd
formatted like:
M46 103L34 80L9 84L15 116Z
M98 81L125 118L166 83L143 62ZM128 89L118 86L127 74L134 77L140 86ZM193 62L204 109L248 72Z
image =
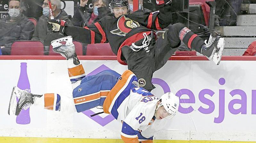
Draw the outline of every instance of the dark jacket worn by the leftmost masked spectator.
M30 40L35 30L34 24L23 14L21 18L15 22L10 22L10 16L0 19L0 46L5 46L2 49L7 50L7 54L10 54L10 46L16 40Z

